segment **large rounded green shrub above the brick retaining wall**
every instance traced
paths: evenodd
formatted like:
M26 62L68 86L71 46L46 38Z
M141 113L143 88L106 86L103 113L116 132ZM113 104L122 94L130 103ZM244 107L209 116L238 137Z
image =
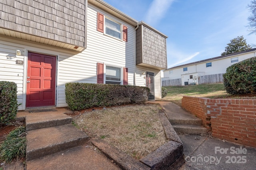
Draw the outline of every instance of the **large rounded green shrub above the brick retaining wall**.
M256 57L229 66L223 74L226 92L246 94L256 92Z

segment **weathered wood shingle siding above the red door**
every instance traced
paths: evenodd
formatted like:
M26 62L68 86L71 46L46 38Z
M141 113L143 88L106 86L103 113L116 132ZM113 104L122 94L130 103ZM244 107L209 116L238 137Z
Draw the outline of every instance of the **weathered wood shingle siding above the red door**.
M85 47L85 0L0 1L0 25L79 47Z

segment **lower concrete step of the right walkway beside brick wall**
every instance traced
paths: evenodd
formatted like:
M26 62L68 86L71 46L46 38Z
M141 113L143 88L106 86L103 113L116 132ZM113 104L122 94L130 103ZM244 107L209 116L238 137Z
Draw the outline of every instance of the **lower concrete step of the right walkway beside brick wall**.
M202 125L185 125L185 124L172 124L174 130L178 133L187 134L206 134L208 130Z

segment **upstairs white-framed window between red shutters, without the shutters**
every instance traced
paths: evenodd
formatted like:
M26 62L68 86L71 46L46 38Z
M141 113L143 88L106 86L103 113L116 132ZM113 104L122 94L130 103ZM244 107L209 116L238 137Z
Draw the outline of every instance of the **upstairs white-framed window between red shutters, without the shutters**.
M108 34L112 37L121 39L122 38L121 37L121 26L122 26L122 24L117 23L117 22L105 17L105 33L106 34Z

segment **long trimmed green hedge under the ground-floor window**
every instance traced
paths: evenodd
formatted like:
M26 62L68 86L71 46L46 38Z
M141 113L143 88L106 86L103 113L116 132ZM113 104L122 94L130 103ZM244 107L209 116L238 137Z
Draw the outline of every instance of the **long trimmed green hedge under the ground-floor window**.
M97 106L142 104L147 101L150 92L147 87L116 84L76 82L66 83L65 87L66 102L72 111Z

